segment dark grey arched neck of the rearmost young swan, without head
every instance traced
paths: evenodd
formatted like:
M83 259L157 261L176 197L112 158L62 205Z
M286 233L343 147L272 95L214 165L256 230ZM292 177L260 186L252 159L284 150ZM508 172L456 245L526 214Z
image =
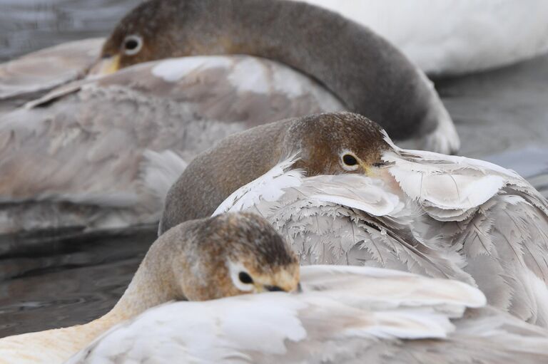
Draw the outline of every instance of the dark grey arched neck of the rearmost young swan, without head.
M435 91L400 51L367 28L296 1L183 4L184 28L172 33L183 33L175 37L191 54L280 61L319 80L350 111L375 120L395 139L424 131Z

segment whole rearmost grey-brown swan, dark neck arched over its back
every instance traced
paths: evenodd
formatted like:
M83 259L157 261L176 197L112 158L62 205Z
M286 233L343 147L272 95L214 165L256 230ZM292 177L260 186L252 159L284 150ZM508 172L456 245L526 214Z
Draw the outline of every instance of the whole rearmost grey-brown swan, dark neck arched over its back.
M263 6L272 7L270 20L248 17L264 17ZM303 19L285 16L293 13ZM309 28L300 26L309 20ZM159 26L167 21L170 27ZM321 41L314 24L346 30L336 43ZM244 39L247 48L219 48L215 32L228 43ZM166 43L176 36L183 39ZM171 56L187 57L164 59ZM308 113L370 110L389 127L394 121L390 128L404 139L424 132L422 147L452 152L459 145L415 66L374 33L305 4L147 1L121 20L91 68L121 70L63 85L0 116L0 234L153 224L171 182L196 154L233 132Z

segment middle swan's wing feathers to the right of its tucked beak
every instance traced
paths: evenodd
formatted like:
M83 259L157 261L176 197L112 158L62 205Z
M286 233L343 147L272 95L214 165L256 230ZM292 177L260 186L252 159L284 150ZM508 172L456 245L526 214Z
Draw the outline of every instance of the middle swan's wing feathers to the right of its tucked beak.
M482 160L397 147L383 159L427 214L420 234L459 249L490 304L548 326L547 200L512 170Z

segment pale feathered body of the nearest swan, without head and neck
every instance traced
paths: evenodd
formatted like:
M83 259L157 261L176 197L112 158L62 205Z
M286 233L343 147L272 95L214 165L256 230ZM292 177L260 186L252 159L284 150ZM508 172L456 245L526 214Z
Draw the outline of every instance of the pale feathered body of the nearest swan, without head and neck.
M458 281L390 269L303 266L299 293L146 311L67 363L540 363L547 332ZM509 345L512 343L512 345Z

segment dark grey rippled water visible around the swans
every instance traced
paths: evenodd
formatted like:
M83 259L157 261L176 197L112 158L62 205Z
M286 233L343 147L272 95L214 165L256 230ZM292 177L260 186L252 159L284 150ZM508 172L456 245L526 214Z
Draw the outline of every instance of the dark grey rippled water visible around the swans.
M106 36L139 2L0 0L0 61ZM436 85L462 137L463 155L513 168L548 191L547 56ZM148 227L77 239L0 238L0 337L106 313L155 237Z

